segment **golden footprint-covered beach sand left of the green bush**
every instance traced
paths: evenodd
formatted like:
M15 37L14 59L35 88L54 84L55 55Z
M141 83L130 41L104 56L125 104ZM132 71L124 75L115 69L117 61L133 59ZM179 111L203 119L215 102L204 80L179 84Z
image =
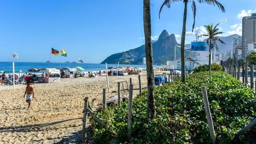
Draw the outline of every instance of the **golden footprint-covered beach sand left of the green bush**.
M138 89L138 76L109 77L110 92L117 95L117 82L132 78ZM102 99L106 76L61 79L59 83L34 84L31 108L23 98L26 85L0 85L0 143L77 143L81 137L83 98ZM143 87L147 86L142 76ZM135 95L138 93L135 90ZM101 101L100 101L101 102Z

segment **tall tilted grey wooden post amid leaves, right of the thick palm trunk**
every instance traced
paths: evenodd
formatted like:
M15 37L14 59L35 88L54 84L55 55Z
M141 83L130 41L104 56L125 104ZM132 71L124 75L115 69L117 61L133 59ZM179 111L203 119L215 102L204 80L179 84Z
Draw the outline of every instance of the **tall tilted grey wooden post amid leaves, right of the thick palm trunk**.
M202 94L203 94L203 99L204 99L204 109L207 117L207 121L209 124L209 131L210 131L210 136L211 136L211 143L215 143L215 135L214 135L214 124L212 123L212 118L211 118L211 111L209 107L209 102L208 102L208 96L207 96L207 91L206 87L202 86L201 87Z

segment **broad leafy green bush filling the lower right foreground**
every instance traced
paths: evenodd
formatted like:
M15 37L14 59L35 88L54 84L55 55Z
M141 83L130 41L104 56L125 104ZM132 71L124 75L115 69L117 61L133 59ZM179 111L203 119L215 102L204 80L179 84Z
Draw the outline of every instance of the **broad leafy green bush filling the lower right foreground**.
M223 72L190 74L155 87L155 120L147 118L147 92L133 99L132 133L127 136L127 102L96 112L107 128L92 120L96 143L210 143L201 86L206 86L217 143L230 143L237 132L256 117L255 91ZM256 127L236 141L256 137Z

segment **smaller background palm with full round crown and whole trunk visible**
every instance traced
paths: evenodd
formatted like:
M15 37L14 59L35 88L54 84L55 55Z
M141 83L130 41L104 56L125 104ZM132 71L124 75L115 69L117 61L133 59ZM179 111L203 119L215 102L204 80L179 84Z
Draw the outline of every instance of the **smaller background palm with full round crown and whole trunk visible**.
M220 23L218 23L218 24L220 24ZM225 44L225 42L223 40L221 40L220 37L218 37L218 35L223 34L223 32L220 32L220 28L217 28L218 24L216 24L215 27L213 26L213 24L204 26L206 28L207 34L200 35L200 36L208 37L206 42L209 45L209 72L210 72L210 74L211 74L211 48L213 48L215 46L216 49L218 49L217 42L221 42L221 43Z

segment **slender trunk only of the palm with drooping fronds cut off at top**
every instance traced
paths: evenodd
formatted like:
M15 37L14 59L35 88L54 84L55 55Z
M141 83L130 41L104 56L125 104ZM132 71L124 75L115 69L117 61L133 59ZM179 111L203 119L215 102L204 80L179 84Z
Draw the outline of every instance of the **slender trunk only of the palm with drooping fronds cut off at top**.
M183 27L180 43L180 57L181 57L181 82L185 83L185 36L186 36L186 22L187 22L187 1L184 2L184 15L183 15Z

